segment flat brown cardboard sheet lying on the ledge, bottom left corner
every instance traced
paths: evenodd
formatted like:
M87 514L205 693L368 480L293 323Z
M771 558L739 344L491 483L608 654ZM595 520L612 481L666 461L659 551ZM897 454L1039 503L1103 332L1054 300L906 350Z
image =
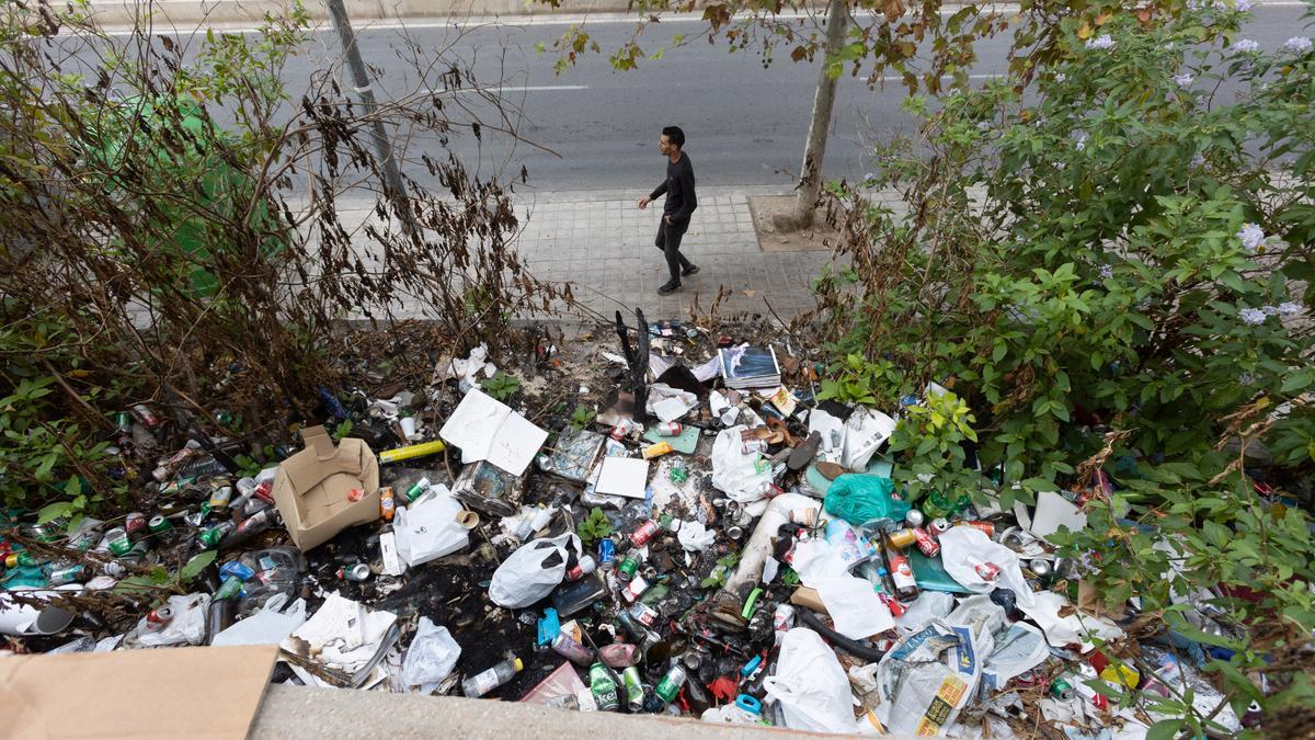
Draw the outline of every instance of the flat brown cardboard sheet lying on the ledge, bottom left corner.
M7 737L246 737L276 645L0 658Z

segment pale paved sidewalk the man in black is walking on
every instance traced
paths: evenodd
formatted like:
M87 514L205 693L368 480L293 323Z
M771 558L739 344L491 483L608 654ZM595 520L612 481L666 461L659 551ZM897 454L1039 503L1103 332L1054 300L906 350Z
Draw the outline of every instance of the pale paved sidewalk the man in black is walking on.
M698 209L681 251L701 271L685 278L681 290L668 296L658 295L658 286L667 282L668 274L667 262L654 244L661 201L639 211L636 200L646 192L636 188L518 195L517 217L523 230L515 248L531 274L543 280L573 283L576 299L608 317L618 308L630 315L639 307L652 319L685 319L696 299L706 313L721 286L730 295L718 308L719 316L775 311L788 320L813 307L809 283L831 263L831 253L763 251L750 213L751 196L788 191L700 188ZM375 219L372 203L338 200L343 226L359 234L360 225ZM426 313L426 305L414 300L394 311L398 319Z

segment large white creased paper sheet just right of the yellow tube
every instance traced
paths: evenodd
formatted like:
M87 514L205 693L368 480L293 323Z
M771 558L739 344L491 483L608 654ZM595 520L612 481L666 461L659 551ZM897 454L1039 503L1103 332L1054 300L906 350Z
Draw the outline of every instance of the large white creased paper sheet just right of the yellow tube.
M462 449L462 462L489 461L512 475L521 475L548 438L510 406L472 388L438 432Z

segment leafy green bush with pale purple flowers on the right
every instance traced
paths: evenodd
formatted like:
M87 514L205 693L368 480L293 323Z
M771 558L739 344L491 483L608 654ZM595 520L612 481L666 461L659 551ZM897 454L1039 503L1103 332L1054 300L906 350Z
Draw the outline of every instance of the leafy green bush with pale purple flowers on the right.
M919 137L864 183L907 211L834 186L852 267L819 280L821 325L836 357L894 366L884 396L953 392L894 435L914 499L1088 491L1065 552L1098 590L1231 650L1206 670L1239 716L1257 700L1266 728L1298 727L1311 523L1252 475L1299 495L1315 467L1315 53L1258 49L1231 8L1064 20L1034 78L910 99ZM1201 736L1210 712L1189 707L1160 703L1157 732Z

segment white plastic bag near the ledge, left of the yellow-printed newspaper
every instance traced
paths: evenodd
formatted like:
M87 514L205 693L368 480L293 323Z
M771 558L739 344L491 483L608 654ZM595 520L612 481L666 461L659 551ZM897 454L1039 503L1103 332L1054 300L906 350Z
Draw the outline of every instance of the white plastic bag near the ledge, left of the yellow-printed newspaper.
M813 732L852 732L849 678L831 648L811 629L797 627L781 640L776 675L763 681L781 703L785 726Z

